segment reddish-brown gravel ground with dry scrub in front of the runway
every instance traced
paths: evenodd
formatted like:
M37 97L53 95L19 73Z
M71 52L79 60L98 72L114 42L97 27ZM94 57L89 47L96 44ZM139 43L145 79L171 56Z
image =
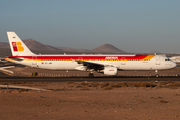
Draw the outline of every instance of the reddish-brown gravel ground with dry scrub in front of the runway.
M180 82L27 82L11 85L52 91L1 88L1 120L180 119Z

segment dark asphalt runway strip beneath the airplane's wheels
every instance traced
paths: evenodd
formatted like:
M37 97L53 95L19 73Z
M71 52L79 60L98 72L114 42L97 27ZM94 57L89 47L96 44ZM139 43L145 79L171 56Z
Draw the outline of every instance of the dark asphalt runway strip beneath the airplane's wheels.
M145 82L180 81L180 77L0 77L0 82Z

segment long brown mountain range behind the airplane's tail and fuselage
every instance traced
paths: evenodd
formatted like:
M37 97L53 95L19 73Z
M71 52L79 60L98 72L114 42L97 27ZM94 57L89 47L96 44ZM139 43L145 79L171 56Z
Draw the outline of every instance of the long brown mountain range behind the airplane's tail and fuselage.
M42 44L37 42L33 39L26 39L23 42L27 45L27 47L36 54L82 54L82 53L98 53L98 54L105 54L105 53L125 53L124 51L114 47L111 44L104 44L92 50L87 49L73 49L68 47L53 47L49 45ZM10 56L10 47L9 43L0 42L0 56Z

